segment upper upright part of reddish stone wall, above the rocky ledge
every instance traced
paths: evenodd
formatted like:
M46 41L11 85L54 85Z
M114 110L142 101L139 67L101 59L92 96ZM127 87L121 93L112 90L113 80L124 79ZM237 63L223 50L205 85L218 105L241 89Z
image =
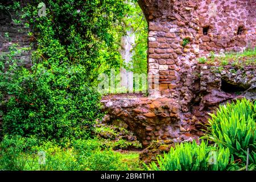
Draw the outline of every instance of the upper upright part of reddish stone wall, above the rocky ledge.
M254 0L141 0L139 4L149 23L148 73L150 77L159 73L160 96L189 100L191 93L181 75L192 71L197 57L255 47ZM185 46L184 39L189 40ZM152 89L149 85L154 96Z

